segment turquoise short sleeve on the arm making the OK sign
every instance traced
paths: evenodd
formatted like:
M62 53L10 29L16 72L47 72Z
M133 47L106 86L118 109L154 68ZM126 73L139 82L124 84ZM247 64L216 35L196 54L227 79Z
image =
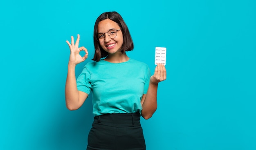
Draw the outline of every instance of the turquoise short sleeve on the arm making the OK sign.
M90 74L88 68L86 68L86 66L85 66L83 68L83 71L81 72L81 74L76 79L77 89L84 93L87 93L88 95L90 94L90 92L92 90L90 78L91 78L91 74Z

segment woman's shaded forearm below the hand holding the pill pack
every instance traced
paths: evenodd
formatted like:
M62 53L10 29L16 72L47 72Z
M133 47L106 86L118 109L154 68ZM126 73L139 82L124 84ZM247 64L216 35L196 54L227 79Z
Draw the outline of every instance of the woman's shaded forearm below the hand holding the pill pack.
M158 84L149 83L148 92L142 104L141 116L145 119L152 117L157 109L157 86Z

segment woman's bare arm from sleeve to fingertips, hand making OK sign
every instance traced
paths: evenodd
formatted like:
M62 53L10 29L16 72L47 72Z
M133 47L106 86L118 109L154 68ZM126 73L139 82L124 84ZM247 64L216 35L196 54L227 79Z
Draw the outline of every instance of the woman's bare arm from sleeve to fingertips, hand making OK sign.
M77 90L76 87L76 64L83 62L88 57L87 49L85 49L85 47L79 48L79 40L80 35L77 35L76 43L74 43L73 36L71 37L71 44L70 42L66 41L70 47L70 60L68 62L67 80L65 86L66 106L69 110L76 110L80 108L83 105L85 99L88 97L87 93ZM85 51L86 54L81 57L79 54L80 51Z

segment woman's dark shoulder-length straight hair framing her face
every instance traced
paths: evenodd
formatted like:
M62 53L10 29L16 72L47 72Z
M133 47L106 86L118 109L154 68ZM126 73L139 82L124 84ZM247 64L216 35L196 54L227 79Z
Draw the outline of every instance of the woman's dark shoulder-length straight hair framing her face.
M125 51L132 51L134 48L132 37L121 15L115 11L102 13L95 22L94 33L93 33L95 53L92 60L96 62L98 62L101 58L108 56L108 53L101 48L98 41L98 25L99 25L99 22L105 19L110 19L116 22L118 26L121 28L121 31L123 33L123 38L124 38L124 43L121 46L121 52L124 53Z

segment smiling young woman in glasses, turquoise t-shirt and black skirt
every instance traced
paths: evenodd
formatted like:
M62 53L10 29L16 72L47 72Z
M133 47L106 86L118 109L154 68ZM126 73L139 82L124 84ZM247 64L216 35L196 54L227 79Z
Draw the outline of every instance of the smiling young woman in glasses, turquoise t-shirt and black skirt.
M82 106L92 93L94 121L87 150L145 150L140 116L149 119L157 109L157 86L166 79L163 64L154 74L149 67L126 55L133 49L128 27L117 12L102 13L94 26L94 62L89 62L76 79L75 67L88 57L79 47L80 35L70 47L66 105L69 110ZM85 51L82 57L80 51Z

